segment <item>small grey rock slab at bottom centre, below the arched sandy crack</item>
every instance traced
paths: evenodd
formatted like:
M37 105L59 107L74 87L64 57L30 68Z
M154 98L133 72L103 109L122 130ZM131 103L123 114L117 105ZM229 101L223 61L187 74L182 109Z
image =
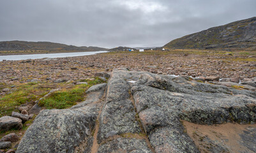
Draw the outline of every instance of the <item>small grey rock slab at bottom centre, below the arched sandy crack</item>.
M98 153L105 152L149 153L152 151L147 146L145 140L138 140L135 138L117 138L116 140L100 145Z

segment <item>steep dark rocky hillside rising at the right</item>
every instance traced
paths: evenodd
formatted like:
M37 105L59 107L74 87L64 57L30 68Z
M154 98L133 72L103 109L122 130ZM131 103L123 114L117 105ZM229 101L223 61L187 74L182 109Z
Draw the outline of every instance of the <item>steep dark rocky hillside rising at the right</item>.
M256 17L189 34L170 41L163 47L256 50Z

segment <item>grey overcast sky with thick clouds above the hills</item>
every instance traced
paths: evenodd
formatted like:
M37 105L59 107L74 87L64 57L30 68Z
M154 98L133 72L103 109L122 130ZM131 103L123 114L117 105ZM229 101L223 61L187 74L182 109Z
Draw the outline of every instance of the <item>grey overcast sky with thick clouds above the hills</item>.
M256 0L0 0L0 41L160 47L256 16Z

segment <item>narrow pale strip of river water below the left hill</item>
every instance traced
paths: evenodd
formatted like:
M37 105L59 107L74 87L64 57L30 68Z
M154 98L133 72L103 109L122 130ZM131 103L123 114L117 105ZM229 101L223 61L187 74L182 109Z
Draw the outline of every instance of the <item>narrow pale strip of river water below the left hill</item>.
M99 53L105 53L108 51L97 51L97 52L71 52L71 53L55 53L55 54L27 54L27 55L3 55L0 56L0 61L11 60L25 60L25 59L42 59L42 58L57 58L57 57L74 57L84 55L94 55Z

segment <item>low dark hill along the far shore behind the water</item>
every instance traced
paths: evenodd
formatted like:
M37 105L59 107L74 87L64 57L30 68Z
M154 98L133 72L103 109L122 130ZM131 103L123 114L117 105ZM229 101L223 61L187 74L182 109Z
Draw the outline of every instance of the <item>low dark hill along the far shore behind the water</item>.
M47 51L99 51L108 50L107 48L100 47L76 47L73 45L64 45L61 43L51 43L45 41L33 42L33 41L0 41L1 51L14 51L14 50L47 50Z

